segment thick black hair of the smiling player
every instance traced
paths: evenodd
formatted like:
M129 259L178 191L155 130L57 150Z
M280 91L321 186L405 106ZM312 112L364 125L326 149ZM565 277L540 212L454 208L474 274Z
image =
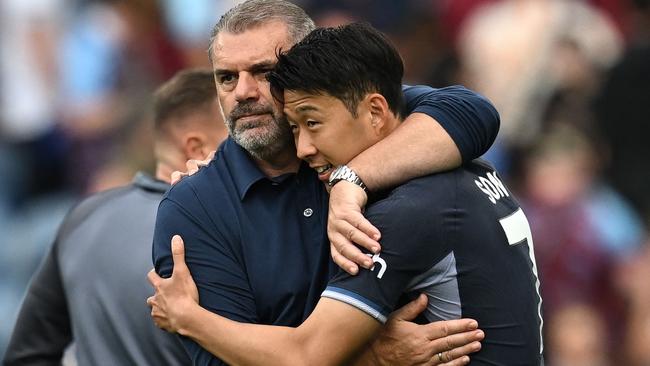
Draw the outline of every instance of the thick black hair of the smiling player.
M278 55L268 74L273 96L284 90L328 94L341 100L353 116L368 93L386 98L396 116L403 115L404 64L388 38L367 23L318 28L289 51Z

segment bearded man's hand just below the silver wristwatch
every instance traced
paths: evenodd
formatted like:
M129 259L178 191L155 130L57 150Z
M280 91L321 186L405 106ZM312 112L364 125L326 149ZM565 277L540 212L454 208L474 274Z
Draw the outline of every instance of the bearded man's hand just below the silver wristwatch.
M349 274L355 275L359 265L372 267L372 260L358 246L378 253L380 233L363 216L368 195L355 184L341 181L330 191L327 235L330 239L332 259ZM356 244L356 245L355 245Z

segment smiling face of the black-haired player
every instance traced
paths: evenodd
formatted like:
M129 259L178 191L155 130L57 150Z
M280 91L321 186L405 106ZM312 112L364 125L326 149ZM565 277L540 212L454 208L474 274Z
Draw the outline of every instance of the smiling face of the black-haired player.
M298 157L316 169L323 182L328 181L333 168L347 164L380 140L363 102L354 117L332 96L285 91L284 113Z

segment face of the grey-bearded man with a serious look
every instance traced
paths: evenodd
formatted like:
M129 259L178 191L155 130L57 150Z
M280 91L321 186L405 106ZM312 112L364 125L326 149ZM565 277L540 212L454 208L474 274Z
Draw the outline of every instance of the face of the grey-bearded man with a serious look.
M266 80L277 61L276 50L290 47L281 22L238 34L222 32L214 40L212 68L228 132L253 154L272 145L291 145L291 131Z

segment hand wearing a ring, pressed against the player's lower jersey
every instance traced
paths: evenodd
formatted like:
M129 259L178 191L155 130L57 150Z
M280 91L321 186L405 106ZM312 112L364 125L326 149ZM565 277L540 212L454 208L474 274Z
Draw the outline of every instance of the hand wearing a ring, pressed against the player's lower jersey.
M485 334L472 319L418 325L411 321L427 305L427 297L396 310L371 345L379 365L445 365L469 363L469 354L481 349Z

